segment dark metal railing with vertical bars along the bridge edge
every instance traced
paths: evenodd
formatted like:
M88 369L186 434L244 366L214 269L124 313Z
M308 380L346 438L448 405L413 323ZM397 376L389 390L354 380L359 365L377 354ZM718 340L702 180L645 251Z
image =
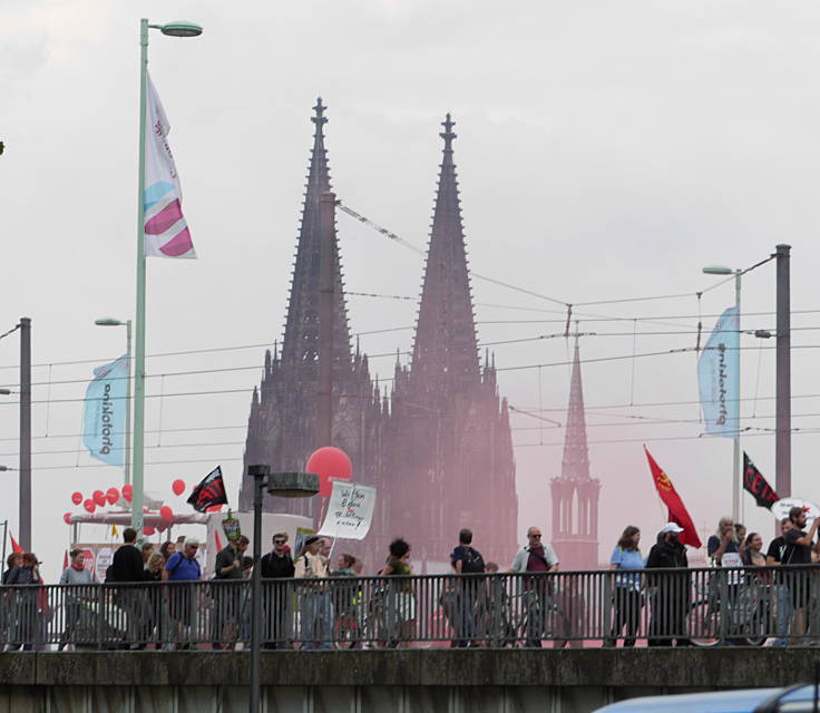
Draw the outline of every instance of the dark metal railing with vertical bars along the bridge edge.
M264 580L262 627L266 648L820 643L820 567ZM0 587L4 651L250 637L247 580Z

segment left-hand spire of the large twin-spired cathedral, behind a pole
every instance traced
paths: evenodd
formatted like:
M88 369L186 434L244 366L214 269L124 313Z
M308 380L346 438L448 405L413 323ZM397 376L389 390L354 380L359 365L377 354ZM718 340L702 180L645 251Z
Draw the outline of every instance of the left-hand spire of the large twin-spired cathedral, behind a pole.
M331 189L328 152L324 148L324 116L326 107L321 97L313 107L311 117L315 126L313 150L308 174L302 225L293 266L287 321L282 343L282 361L287 363L316 363L319 359L319 255L320 255L320 204L323 193ZM348 312L344 304L343 283L339 246L333 244L334 302L334 363L352 359Z

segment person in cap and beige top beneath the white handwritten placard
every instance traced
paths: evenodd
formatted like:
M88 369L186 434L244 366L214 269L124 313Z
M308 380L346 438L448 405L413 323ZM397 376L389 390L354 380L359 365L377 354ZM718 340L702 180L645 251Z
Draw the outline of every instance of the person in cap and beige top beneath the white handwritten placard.
M328 565L319 554L322 538L311 535L294 563L296 579L313 580L302 587L302 648L330 648L333 633L333 607L325 583L316 582L328 577Z

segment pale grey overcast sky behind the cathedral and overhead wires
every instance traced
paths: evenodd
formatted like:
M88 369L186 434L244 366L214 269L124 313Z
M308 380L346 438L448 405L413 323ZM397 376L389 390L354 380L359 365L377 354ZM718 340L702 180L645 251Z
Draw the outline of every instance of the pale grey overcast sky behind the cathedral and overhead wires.
M76 451L82 381L125 350L124 331L92 322L134 314L143 16L205 28L192 40L150 38L150 71L173 125L199 258L149 261L147 351L256 345L148 360L148 392L157 398L147 406L146 460L199 461L146 468L147 490L172 507L183 507L170 494L174 478L191 485L216 463L236 492L262 345L284 324L319 95L329 106L339 198L408 241L427 241L439 123L451 111L477 273L575 304L691 295L575 307L582 331L596 332L582 340L585 359L694 346L694 293L716 282L702 266L745 267L790 243L792 307L809 311L793 316L793 326L806 329L792 338L801 348L792 354L792 392L820 394L810 349L820 345L816 3L7 1L0 4L0 332L30 316L33 361L53 364L33 372L42 384L33 391L42 401L33 407L33 546L49 580L68 543L61 515L72 509L70 494L121 482L121 472ZM338 225L348 290L419 294L418 255L348 216L339 215ZM565 313L550 302L472 285L482 343L564 329ZM743 328L773 329L773 264L750 274L743 290ZM713 290L701 312L714 315L733 299L731 284ZM353 332L414 323L412 301L350 296L348 307ZM609 321L594 321L602 316ZM705 329L714 321L704 318ZM408 349L411 335L410 329L365 334L362 349L393 353ZM758 351L759 340L743 339L742 395L759 397L743 404L743 416L754 416L745 424L771 428L773 340ZM500 369L563 362L568 353L564 339L492 349ZM17 335L0 341L0 367L18 359ZM59 363L72 360L89 361ZM374 358L371 367L390 377L393 361ZM247 369L162 378L240 367ZM14 369L0 371L4 384L13 388L16 379ZM66 380L77 382L47 385ZM514 406L550 409L546 416L564 421L566 365L501 371L499 383ZM625 525L644 528L651 540L665 521L642 442L697 527L713 529L731 506L732 449L726 439L697 438L695 355L589 363L584 388L590 461L603 484L602 558ZM169 395L211 390L230 393ZM11 467L14 400L0 397L0 463ZM681 401L691 403L644 406ZM795 399L793 412L794 427L820 428L820 395ZM635 416L683 422L628 418ZM564 431L539 423L512 421L519 525L549 533L548 482L560 471ZM199 430L217 426L231 428ZM743 448L773 484L773 436L752 433ZM820 500L819 439L793 438L793 495L813 500ZM17 534L17 473L0 477L7 494L0 518ZM749 496L744 505L750 527L769 539L771 518Z

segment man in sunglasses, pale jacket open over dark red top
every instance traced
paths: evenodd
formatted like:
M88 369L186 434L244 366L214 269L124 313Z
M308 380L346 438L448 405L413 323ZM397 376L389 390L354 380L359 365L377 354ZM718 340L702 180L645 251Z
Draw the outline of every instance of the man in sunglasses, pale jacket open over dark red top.
M510 572L534 573L536 576L523 577L524 598L527 603L527 642L528 648L540 648L546 633L547 613L550 607L550 584L543 576L558 572L558 556L550 545L541 541L541 530L530 527L527 530L527 545L521 547L512 560ZM540 575L540 576L538 576Z

